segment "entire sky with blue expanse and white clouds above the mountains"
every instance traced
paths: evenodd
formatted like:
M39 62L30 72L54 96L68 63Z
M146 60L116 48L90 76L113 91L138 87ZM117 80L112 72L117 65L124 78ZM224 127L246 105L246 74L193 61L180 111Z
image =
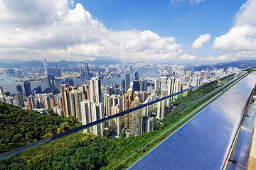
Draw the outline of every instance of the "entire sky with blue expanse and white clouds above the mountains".
M0 61L256 59L256 0L0 0Z

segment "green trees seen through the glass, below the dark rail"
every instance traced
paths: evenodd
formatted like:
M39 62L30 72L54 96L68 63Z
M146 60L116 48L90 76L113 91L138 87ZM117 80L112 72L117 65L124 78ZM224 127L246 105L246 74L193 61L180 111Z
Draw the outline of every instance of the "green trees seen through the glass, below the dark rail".
M196 112L190 114L199 106L218 94L222 80L205 84L171 102L169 115L163 120L155 118L152 132L125 137L123 130L119 138L76 132L6 159L1 162L0 169L126 169L195 115Z

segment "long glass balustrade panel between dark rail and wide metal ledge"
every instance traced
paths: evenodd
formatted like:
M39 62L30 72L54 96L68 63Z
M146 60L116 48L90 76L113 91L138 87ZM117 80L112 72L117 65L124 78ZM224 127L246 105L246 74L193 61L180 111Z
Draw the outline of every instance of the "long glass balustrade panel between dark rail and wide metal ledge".
M1 161L1 169L126 169L244 74L233 74ZM161 97L166 93L162 91ZM128 108L142 106L134 97ZM112 115L118 113L112 107Z

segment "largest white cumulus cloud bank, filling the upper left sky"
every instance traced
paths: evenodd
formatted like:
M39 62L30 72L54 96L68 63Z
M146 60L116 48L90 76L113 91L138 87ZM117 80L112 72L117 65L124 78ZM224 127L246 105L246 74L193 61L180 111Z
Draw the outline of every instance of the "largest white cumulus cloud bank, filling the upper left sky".
M175 38L150 30L113 31L68 0L0 0L0 56L23 60L174 60Z

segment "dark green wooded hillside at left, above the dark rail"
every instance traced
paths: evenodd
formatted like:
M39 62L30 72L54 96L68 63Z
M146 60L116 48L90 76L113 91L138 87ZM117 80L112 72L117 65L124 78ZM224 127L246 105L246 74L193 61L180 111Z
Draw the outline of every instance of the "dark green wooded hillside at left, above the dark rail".
M76 118L42 115L0 103L0 154L79 125Z

